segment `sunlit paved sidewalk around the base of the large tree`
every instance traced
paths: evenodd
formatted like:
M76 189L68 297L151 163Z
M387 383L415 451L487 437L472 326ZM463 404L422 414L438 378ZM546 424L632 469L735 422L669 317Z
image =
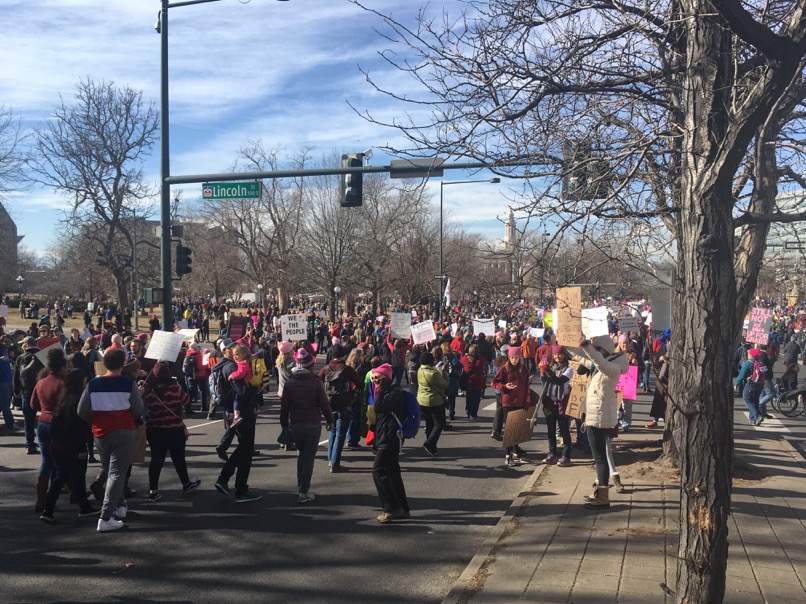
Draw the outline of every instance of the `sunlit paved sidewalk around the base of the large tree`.
M806 602L803 439L778 420L749 426L736 402L736 454L769 476L734 480L724 601ZM534 458L545 455L541 427L528 447ZM660 436L624 434L616 463L619 448ZM610 509L597 512L582 505L595 474L589 456L569 468L539 465L443 602L674 602L679 481L637 470L621 470L625 492L611 489Z

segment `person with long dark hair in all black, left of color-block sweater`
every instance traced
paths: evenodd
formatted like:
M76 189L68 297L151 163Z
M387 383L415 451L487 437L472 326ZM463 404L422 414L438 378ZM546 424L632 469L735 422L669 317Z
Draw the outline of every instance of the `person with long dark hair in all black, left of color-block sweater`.
M39 517L47 523L56 518L53 511L65 484L79 505L79 516L96 516L100 511L87 498L87 439L92 435L89 425L78 417L78 401L87 383L83 369L71 369L64 376L63 387L51 413L50 455L53 473L45 498L45 509Z

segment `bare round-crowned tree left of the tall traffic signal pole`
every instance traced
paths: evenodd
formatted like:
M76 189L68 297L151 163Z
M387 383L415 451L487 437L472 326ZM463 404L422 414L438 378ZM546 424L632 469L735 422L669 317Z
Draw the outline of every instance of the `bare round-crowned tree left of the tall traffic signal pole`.
M83 233L129 305L134 234L130 225L154 207L142 165L155 142L158 114L142 93L113 82L81 80L75 102L60 97L53 117L34 135L31 179L70 201L65 229ZM100 223L100 226L99 226Z

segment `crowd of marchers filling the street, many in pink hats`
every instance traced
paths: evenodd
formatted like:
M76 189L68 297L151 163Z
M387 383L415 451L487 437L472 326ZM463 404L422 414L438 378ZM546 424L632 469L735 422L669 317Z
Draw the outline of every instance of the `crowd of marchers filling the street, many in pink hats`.
M188 304L180 313L189 321L209 321L218 320L219 310L210 308L208 315L202 304ZM413 317L419 312L420 320L429 315L428 309L395 310ZM372 476L382 507L378 521L410 517L399 463L407 396L416 399L423 419L422 447L437 457L440 437L453 429L458 414L478 421L489 388L495 398L491 438L502 440L513 413L537 405L547 425L548 449L542 461L569 467L575 450L591 454L596 486L585 505L609 507L609 487L623 490L612 440L619 430L630 430L633 421L634 399L617 397L616 384L630 366L637 367L636 390L654 390L646 425L656 427L665 411L671 331L652 333L642 326L638 332L621 333L613 317L608 335L580 334L576 346L565 347L554 341L543 317L525 306L485 309L503 317L499 325L506 327L490 335L474 334L472 317L479 310L452 309L445 322L434 322L436 340L416 344L393 337L388 320L369 311L327 321L316 309L306 309L307 339L290 342L282 339L279 308L252 308L237 339L228 337L231 323L221 321L220 335L213 340L199 328L196 339L187 342L175 360L148 358L150 334L135 333L125 322L118 325L114 316L107 320L106 311L100 333L87 327L84 332L72 329L67 337L60 325L43 321L28 331L0 334L0 410L5 431L18 432L13 400L23 414L25 450L40 456L34 509L42 520L55 521L54 507L66 486L80 515L99 516L101 532L124 526L127 499L134 494L128 485L132 465L146 459L146 448L148 501L161 498L160 474L167 457L183 492L200 486L188 470L184 421L197 411L223 419L216 453L224 463L215 489L234 495L237 503L259 500L249 475L257 418L269 393L280 402L278 441L297 456L300 504L315 498L311 480L324 422L329 472L347 471L342 463L345 448L371 446ZM753 423L766 415L779 345L788 371L795 371L802 356L798 332L791 322L786 325L776 324L764 350L743 346L737 351L737 390ZM760 358L765 370L759 380ZM323 365L315 371L317 360ZM589 378L585 415L580 418L566 414L575 373ZM276 391L273 385L270 389L272 378ZM464 409L459 409L462 397ZM510 443L504 463L529 462L525 446ZM96 459L96 451L101 470L88 491L87 464Z

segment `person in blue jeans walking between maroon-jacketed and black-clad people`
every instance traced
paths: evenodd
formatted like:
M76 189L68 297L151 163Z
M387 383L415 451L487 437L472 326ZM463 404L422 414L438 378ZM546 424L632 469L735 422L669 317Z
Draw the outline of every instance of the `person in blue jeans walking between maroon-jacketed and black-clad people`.
M341 453L347 439L347 428L353 418L353 401L364 386L356 370L345 361L347 352L341 344L330 348L331 361L322 367L319 378L325 383L325 391L333 413L333 430L328 434L327 461L330 472L344 472Z

